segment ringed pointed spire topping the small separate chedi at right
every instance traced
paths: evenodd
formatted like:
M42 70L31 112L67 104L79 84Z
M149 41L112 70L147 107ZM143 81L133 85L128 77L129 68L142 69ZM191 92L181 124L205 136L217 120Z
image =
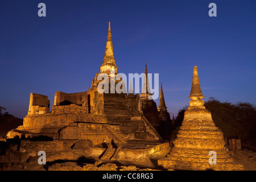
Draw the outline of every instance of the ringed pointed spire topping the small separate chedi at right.
M197 66L193 68L192 86L190 96L188 98L191 98L192 100L201 100L201 98L204 98L200 87Z

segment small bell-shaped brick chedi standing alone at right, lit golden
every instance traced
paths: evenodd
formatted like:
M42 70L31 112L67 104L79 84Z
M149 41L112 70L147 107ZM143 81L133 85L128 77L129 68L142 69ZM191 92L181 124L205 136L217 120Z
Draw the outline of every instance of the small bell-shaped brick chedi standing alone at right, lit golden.
M184 113L184 119L174 147L166 158L158 160L164 168L181 170L241 170L243 166L234 164L233 158L224 148L223 133L215 126L211 113L205 109L204 98L197 73L193 69L190 106ZM212 154L216 154L216 158ZM216 163L215 163L216 162ZM214 164L215 163L215 164Z

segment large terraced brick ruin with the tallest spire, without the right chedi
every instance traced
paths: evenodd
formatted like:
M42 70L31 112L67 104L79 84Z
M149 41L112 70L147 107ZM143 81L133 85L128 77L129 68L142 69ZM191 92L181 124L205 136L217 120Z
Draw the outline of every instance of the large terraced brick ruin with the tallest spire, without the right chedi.
M7 133L7 140L19 138L19 144L10 145L0 160L7 166L29 168L39 165L39 151L46 152L47 164L80 159L144 163L166 155L170 144L156 131L160 118L155 102L148 100L148 83L141 97L132 90L129 94L98 92L98 75L105 73L110 81L112 70L117 76L109 22L104 59L89 90L57 91L51 111L48 96L31 93L23 125ZM147 82L147 67L145 73Z

